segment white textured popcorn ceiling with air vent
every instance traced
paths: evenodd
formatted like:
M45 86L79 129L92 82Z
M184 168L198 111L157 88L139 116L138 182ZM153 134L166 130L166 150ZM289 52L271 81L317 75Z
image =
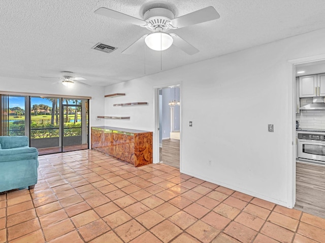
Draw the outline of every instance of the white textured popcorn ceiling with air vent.
M176 17L213 6L220 19L172 30L200 50L192 56L172 46L155 52L143 45L121 52L146 28L94 14L100 7L136 18L152 7ZM1 0L0 76L53 83L61 71L106 86L189 63L325 28L323 0ZM92 50L97 43L118 49Z

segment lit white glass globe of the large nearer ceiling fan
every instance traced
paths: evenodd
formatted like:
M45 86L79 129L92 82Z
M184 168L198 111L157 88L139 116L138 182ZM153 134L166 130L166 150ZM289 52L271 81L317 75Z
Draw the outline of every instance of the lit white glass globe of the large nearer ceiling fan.
M164 51L173 44L173 37L165 32L153 32L144 39L146 45L154 51Z

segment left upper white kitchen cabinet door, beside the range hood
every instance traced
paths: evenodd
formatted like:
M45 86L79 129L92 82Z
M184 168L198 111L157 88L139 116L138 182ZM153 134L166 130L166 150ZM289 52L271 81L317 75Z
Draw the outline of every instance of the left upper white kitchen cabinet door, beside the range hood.
M299 77L299 97L315 97L318 94L317 74Z

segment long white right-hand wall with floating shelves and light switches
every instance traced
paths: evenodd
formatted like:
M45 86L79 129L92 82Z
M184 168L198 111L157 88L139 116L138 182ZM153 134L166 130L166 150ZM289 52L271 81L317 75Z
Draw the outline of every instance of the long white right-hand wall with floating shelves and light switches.
M182 83L181 172L293 207L293 65L289 60L324 54L324 41L325 30L310 32L108 86L105 94L126 96L106 98L105 114L131 119L105 124L153 131L156 154L154 87ZM149 105L112 105L136 101ZM268 132L268 124L274 124L274 133Z

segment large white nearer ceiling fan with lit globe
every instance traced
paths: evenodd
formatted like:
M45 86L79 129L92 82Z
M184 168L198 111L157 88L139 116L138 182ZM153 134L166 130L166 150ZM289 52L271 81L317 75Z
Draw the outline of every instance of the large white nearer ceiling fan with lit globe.
M129 47L143 42L144 39L146 45L152 50L164 51L174 45L189 55L196 54L199 52L199 50L177 34L167 33L166 31L169 29L179 29L189 25L204 23L220 18L220 15L212 6L194 11L178 18L174 18L174 13L166 8L149 9L144 13L144 20L107 8L99 8L98 10L94 11L94 13L135 24L151 31L151 33L143 35ZM129 47L122 51L122 53L128 53Z

